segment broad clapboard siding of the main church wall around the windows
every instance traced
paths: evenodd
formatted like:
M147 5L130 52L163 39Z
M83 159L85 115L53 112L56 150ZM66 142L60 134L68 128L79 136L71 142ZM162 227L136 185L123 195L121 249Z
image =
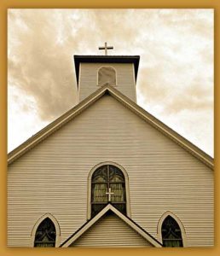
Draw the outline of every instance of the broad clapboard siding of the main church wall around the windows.
M213 245L213 171L112 96L55 131L9 166L8 244L30 246L32 227L49 212L61 242L87 220L88 176L113 161L129 177L131 218L158 238L173 212L189 247Z

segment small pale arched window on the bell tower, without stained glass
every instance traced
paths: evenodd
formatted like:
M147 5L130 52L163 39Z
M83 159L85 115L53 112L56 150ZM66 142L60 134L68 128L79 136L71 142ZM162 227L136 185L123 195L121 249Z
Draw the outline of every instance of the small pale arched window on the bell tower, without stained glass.
M113 67L104 66L98 70L98 85L116 85L116 72Z

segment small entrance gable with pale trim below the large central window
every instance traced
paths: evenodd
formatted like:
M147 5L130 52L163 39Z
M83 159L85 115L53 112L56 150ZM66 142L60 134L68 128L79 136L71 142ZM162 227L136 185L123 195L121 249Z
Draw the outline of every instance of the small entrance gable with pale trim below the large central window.
M153 236L108 204L61 247L162 247Z

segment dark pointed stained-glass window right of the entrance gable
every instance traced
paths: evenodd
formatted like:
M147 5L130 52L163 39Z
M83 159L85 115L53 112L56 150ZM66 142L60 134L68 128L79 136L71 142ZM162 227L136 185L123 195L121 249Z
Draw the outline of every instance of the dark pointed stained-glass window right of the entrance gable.
M161 227L164 247L182 247L182 233L177 221L168 215Z

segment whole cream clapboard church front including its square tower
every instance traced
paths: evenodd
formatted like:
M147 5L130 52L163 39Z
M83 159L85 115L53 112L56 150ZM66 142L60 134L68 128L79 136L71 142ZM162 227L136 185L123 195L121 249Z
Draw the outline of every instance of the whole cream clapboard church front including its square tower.
M139 56L75 55L78 105L9 153L9 247L211 247L213 159L136 104Z

